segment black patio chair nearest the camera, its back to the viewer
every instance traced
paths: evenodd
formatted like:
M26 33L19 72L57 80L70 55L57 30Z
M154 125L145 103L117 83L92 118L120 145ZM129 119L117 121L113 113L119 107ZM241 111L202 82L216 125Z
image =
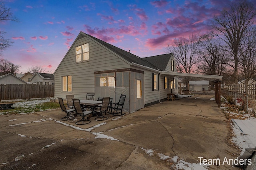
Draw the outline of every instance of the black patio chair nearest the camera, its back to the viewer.
M81 107L79 99L72 99L72 100L73 100L76 114L82 116L82 119L77 121L76 125L85 125L85 124L90 123L91 121L89 119L92 116L94 108L92 107L89 109L90 111L87 111L85 107ZM87 119L85 117L87 117Z

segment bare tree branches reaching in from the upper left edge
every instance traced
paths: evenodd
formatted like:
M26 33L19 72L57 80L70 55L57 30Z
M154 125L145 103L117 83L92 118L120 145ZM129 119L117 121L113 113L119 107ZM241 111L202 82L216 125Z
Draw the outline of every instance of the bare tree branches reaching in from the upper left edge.
M6 8L4 2L0 1L0 22L2 21L18 21L16 18L12 16L12 12L10 8ZM5 39L3 34L6 33L5 31L0 31L0 51L11 46L12 41L10 39Z

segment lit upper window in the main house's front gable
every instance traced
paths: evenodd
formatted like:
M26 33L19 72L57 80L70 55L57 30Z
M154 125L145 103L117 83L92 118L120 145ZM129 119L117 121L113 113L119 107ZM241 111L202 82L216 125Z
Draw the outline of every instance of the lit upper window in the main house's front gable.
M88 61L89 59L89 43L76 47L76 63Z

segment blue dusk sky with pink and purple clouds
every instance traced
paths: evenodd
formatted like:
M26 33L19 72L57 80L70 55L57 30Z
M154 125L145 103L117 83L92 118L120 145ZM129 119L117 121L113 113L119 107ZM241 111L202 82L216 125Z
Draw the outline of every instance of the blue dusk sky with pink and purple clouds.
M252 0L256 4L256 0ZM27 72L53 73L80 31L139 57L166 53L174 38L210 31L214 15L231 0L4 0L19 22L0 30L12 47L0 58Z

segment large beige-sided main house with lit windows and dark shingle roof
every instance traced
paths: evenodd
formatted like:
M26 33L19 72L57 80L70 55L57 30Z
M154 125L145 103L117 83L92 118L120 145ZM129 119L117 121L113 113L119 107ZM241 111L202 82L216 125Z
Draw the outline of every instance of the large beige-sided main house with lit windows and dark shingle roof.
M140 58L100 39L80 32L54 72L55 98L86 93L113 98L126 94L124 110L130 113L166 100L178 93L174 56L164 54Z

